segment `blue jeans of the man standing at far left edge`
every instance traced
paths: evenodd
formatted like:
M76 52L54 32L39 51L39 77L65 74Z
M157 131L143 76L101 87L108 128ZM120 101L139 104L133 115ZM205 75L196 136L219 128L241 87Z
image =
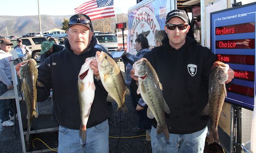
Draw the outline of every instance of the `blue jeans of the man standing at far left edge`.
M8 91L7 86L0 81L0 96L3 95L6 91ZM1 123L10 119L10 115L14 115L13 111L13 102L11 99L1 99L0 100L0 119Z

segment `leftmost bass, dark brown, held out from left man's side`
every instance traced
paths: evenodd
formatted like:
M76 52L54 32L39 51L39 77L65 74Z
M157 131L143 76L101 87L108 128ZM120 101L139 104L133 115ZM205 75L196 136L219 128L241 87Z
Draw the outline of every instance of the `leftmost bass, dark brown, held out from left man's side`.
M20 66L20 79L22 80L22 91L26 101L27 107L27 133L26 141L29 141L29 134L31 129L31 124L34 116L37 118L38 113L36 111L37 102L37 91L36 83L38 78L38 69L36 67L36 61L33 58L29 58L22 62Z

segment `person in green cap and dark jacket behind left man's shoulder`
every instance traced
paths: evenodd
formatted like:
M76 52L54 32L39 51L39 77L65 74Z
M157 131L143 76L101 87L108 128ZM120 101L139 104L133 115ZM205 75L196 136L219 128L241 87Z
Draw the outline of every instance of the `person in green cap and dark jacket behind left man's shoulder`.
M41 63L44 62L51 54L55 52L60 52L64 46L56 45L54 41L44 41L41 44Z

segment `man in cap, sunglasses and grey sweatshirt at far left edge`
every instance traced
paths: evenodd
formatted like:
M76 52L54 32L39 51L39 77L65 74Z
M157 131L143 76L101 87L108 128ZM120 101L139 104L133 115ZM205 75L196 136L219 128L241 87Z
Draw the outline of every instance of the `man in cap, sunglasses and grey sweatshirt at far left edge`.
M10 61L13 60L10 53L13 43L9 39L0 41L0 95L13 89ZM3 126L13 126L14 120L13 102L11 99L0 99L0 119Z

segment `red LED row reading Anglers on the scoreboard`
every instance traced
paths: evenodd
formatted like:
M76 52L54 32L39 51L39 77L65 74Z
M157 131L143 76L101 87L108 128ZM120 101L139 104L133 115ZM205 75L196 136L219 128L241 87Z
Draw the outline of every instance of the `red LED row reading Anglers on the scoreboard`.
M215 28L215 35L239 34L255 31L255 22L220 26Z

